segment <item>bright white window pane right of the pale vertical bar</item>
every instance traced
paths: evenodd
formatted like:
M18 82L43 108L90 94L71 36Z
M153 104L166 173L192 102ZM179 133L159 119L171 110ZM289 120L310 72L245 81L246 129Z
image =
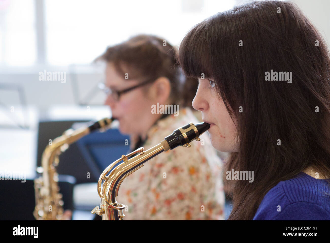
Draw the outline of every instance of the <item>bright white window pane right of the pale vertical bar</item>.
M140 33L178 45L185 33L234 0L46 0L46 46L50 64L90 63L107 46Z

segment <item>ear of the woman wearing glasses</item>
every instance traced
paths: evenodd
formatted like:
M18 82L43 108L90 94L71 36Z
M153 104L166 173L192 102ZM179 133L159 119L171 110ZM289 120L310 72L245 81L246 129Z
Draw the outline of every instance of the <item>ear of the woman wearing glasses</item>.
M171 83L166 77L159 77L153 83L151 90L149 92L150 98L159 103L166 102L171 93Z

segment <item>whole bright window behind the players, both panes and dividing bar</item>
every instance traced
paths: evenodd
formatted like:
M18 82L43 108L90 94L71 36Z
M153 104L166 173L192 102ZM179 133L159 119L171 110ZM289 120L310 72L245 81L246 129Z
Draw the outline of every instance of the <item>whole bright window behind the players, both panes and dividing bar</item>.
M178 45L235 0L1 0L0 64L88 64L107 46L145 33Z

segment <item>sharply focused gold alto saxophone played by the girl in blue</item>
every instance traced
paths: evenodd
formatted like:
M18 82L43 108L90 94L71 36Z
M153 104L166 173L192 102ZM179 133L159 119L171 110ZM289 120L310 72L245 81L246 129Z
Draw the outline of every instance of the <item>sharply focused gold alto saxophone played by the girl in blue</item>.
M128 155L122 155L120 159L110 164L101 174L97 182L97 192L101 198L101 205L96 206L91 213L102 216L102 220L123 220L125 217L125 205L117 203L116 197L121 182L140 169L149 159L155 157L163 151L174 149L182 145L190 147L189 142L196 139L200 141L199 136L210 128L210 124L202 122L194 125L192 122L174 130L156 146L144 151L143 147L138 148ZM128 159L134 154L138 155ZM122 161L120 164L118 164ZM116 165L118 164L118 165Z

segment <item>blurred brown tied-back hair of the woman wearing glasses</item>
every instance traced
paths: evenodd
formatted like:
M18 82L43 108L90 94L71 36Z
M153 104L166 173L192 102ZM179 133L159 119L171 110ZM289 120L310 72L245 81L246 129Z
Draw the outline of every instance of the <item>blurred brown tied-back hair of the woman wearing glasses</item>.
M166 77L171 84L172 104L192 108L198 82L183 75L176 56L177 48L166 39L139 34L108 47L95 61L111 62L123 77L125 73L129 73L130 79L138 79L140 82ZM144 89L146 92L148 87Z

